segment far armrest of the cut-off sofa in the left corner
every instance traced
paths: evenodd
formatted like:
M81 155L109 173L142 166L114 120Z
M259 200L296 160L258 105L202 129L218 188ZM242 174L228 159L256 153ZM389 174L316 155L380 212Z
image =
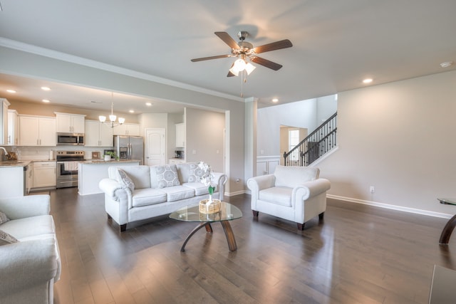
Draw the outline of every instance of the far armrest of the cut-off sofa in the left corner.
M29 195L0 199L0 211L9 219L24 219L31 216L49 214L51 196Z

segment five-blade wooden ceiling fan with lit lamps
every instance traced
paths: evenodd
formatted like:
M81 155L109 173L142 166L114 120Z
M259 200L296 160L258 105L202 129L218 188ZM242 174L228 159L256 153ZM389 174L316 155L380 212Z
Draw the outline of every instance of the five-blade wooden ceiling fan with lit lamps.
M227 45L231 48L231 54L195 58L192 59L192 62L207 61L218 58L237 57L238 59L234 61L234 63L232 64L231 68L229 69L227 77L237 76L239 75L239 72L241 72L242 70L245 70L248 75L252 73L252 71L255 69L255 66L252 65L252 63L248 63L247 58L253 63L258 63L259 65L263 65L266 68L271 68L272 70L279 70L282 67L282 65L258 57L257 54L280 50L281 48L290 48L291 46L293 46L293 44L291 44L291 41L289 41L288 39L284 39L281 41L264 44L263 46L257 46L254 48L252 43L245 41L245 38L249 36L249 33L247 31L239 31L237 33L239 42L234 41L234 39L231 38L231 36L229 36L229 34L224 31L216 31L214 34L217 35L220 39L222 39L224 43L227 43Z

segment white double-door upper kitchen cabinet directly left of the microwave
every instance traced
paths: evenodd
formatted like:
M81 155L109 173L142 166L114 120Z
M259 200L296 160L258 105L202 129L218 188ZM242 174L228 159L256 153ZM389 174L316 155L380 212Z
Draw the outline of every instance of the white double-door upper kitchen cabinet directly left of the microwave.
M19 115L21 146L56 146L56 118Z

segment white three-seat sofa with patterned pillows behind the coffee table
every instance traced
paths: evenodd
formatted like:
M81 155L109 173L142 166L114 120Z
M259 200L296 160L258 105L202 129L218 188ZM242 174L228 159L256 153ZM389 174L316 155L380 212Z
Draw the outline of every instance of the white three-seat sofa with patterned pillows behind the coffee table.
M105 193L108 219L114 219L120 231L125 231L133 221L170 214L182 206L207 199L209 187L199 182L201 174L197 162L109 167L109 178L99 183ZM126 175L126 179L121 175ZM223 200L226 182L225 174L214 172L217 185L214 199Z

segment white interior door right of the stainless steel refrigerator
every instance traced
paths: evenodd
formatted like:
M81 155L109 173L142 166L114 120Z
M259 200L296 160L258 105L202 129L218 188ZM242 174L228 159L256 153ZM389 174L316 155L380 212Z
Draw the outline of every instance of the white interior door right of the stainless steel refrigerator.
M145 163L148 166L166 164L165 129L146 129L145 146Z

